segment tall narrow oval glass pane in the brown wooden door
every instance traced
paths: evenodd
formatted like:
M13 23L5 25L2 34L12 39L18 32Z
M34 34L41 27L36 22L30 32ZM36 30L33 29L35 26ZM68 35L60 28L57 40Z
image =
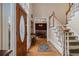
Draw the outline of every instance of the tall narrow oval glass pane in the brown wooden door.
M21 41L24 41L24 36L25 36L25 26L24 26L24 17L21 16L20 18L20 37L21 37Z

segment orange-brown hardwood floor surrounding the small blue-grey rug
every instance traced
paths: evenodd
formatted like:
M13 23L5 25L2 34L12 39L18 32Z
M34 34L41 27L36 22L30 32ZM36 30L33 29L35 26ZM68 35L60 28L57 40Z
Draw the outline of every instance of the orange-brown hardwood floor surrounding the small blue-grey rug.
M49 46L49 52L38 52L40 44L47 44ZM54 46L51 46L44 38L38 38L35 45L31 46L28 52L28 56L61 56Z

